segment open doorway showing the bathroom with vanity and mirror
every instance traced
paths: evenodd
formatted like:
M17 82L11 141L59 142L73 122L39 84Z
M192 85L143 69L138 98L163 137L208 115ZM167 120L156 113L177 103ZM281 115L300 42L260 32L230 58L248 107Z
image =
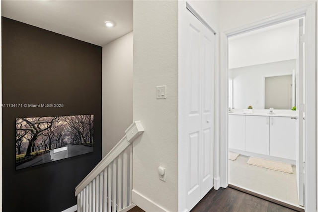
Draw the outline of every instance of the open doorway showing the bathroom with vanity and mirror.
M305 97L303 23L295 18L228 38L229 183L300 208L296 132L304 130L294 106Z

